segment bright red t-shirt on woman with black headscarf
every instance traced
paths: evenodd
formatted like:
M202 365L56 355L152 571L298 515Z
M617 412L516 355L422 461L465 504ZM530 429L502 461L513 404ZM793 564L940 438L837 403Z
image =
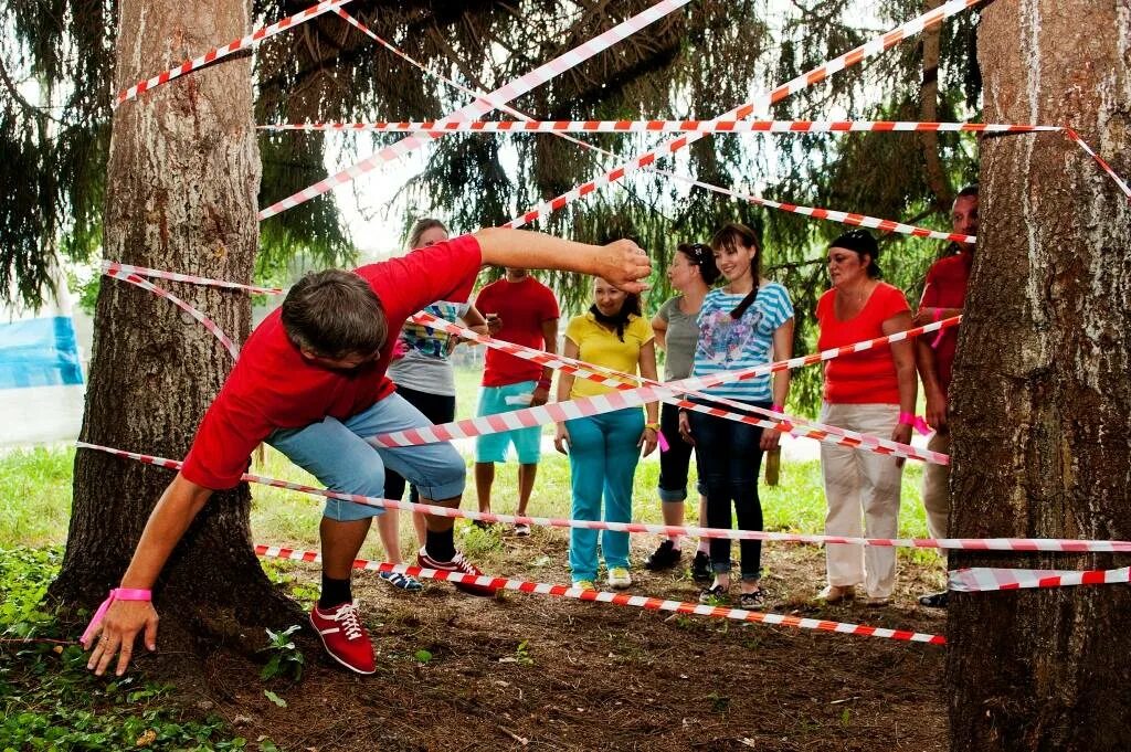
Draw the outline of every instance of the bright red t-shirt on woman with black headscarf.
M820 349L843 347L863 339L883 336L883 322L909 311L903 291L881 282L854 318L840 321L832 312L837 289L826 292L817 302ZM841 355L824 364L824 401L839 405L898 405L899 380L890 347L873 347L862 353Z

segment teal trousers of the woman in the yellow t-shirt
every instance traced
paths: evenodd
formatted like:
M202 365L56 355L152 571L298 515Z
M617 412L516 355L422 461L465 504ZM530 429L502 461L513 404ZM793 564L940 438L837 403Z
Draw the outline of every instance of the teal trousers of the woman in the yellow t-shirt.
M644 413L627 407L566 421L573 519L599 520L604 495L608 522L632 521L632 479L640 459ZM608 569L628 569L629 534L601 530L601 551ZM570 528L569 565L573 581L597 579L597 530Z

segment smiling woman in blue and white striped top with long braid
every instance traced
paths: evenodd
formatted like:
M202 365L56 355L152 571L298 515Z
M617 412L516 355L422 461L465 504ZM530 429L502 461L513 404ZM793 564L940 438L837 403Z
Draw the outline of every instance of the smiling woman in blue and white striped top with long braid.
M737 223L727 224L711 239L715 263L726 285L713 289L699 311L699 340L693 375L735 371L793 355L793 303L789 293L761 276L761 248L754 232ZM705 389L760 408L782 412L789 392L789 372L779 371L745 381L732 381ZM693 400L698 401L698 400ZM727 408L731 409L731 408ZM754 413L751 413L754 414ZM707 492L707 526L731 528L734 505L742 530L762 529L762 507L758 499L758 473L762 452L777 446L777 431L707 415L680 412L680 432L696 446L700 483ZM761 542L742 541L742 584L739 605L758 608L765 603L761 588ZM715 581L705 589L702 603L726 600L731 588L731 541L710 539L710 564Z

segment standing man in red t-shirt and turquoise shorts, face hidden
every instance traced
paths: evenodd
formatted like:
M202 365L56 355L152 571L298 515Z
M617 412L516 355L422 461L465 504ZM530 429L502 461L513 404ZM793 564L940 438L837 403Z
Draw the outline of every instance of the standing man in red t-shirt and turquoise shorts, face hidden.
M508 267L507 276L493 282L475 299L475 308L487 319L491 336L517 345L558 352L558 299L553 291L527 273ZM545 405L553 371L507 353L487 349L477 415L508 413L528 405ZM532 426L478 436L475 441L475 491L480 511L491 511L494 464L507 460L508 444L518 455L518 515L534 490L542 456L542 429ZM515 535L529 535L527 525L515 526Z

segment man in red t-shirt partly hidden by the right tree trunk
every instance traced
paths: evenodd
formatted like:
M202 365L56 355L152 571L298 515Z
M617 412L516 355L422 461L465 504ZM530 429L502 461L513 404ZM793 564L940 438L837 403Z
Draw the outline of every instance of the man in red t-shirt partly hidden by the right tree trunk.
M953 232L977 235L978 187L969 185L958 192L950 215ZM958 253L935 261L926 273L923 301L915 314L915 326L949 319L962 312L966 286L974 265L973 243L957 243ZM915 342L915 361L926 397L926 421L934 429L927 442L932 451L950 453L950 431L947 427L947 390L955 366L958 329L950 328L940 335L920 337ZM950 521L950 466L927 465L923 470L923 505L931 537L944 538ZM920 603L932 608L947 606L947 591L920 597Z

